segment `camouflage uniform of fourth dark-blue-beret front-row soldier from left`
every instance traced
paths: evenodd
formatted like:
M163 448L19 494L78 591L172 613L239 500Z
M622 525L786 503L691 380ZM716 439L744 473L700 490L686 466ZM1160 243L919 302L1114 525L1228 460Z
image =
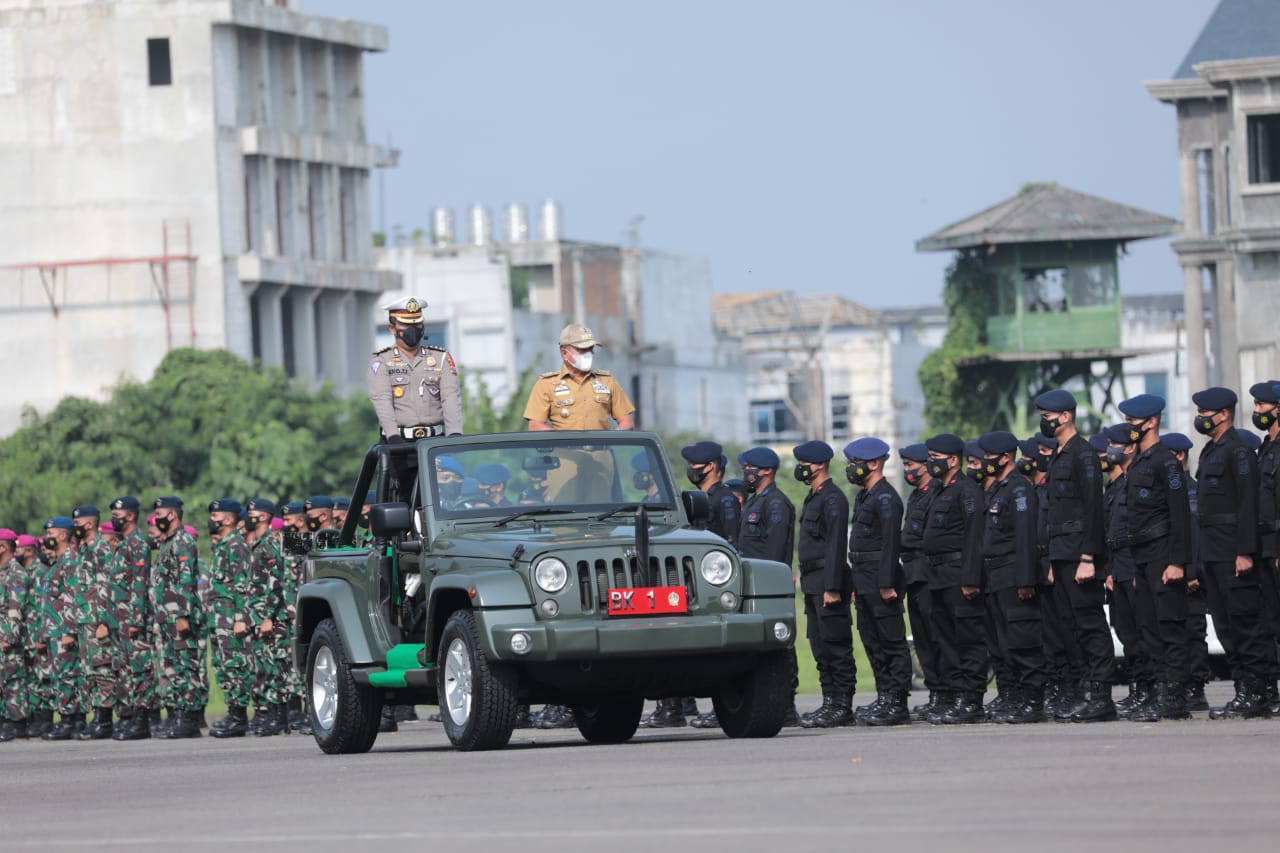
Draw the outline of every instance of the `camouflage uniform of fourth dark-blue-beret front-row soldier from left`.
M151 608L156 626L156 675L160 702L178 711L204 707L200 654L200 557L196 540L178 529L160 546L151 573ZM186 619L186 631L178 620Z

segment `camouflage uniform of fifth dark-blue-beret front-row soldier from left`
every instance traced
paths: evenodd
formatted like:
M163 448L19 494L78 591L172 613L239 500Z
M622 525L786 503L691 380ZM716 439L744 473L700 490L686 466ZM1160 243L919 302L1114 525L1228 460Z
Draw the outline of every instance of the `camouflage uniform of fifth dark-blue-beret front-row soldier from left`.
M251 630L250 549L239 533L229 533L214 543L207 587L214 675L227 697L227 704L244 708L253 695L253 667L247 634ZM246 633L241 637L236 635L236 622L244 622Z

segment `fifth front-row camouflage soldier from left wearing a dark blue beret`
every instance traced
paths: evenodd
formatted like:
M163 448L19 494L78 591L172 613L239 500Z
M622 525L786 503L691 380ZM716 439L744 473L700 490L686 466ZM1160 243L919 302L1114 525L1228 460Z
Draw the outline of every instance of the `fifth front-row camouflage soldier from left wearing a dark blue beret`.
M209 569L209 611L214 675L227 697L227 717L210 730L215 738L243 738L246 710L252 698L253 672L248 638L250 551L239 534L241 505L219 498L209 505L209 534L214 540Z

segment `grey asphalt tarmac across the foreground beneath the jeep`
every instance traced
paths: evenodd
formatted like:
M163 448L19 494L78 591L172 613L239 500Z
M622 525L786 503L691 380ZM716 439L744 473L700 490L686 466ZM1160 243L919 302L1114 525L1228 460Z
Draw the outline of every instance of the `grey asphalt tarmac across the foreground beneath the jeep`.
M1211 685L1225 701L1230 685ZM1117 695L1120 695L1117 690ZM918 697L913 697L918 698ZM707 706L704 701L701 703ZM817 698L801 698L801 711ZM0 850L1276 849L1280 720L0 745Z

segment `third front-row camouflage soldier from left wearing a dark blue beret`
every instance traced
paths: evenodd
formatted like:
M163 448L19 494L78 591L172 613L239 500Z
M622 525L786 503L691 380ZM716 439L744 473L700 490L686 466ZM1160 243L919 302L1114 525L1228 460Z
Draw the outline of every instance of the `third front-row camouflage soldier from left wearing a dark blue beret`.
M152 663L151 547L138 526L140 503L127 494L111 501L111 525L120 543L111 557L111 579L123 594L116 602L120 625L120 669L115 681L120 724L113 740L146 740L151 736L150 708L156 701Z

